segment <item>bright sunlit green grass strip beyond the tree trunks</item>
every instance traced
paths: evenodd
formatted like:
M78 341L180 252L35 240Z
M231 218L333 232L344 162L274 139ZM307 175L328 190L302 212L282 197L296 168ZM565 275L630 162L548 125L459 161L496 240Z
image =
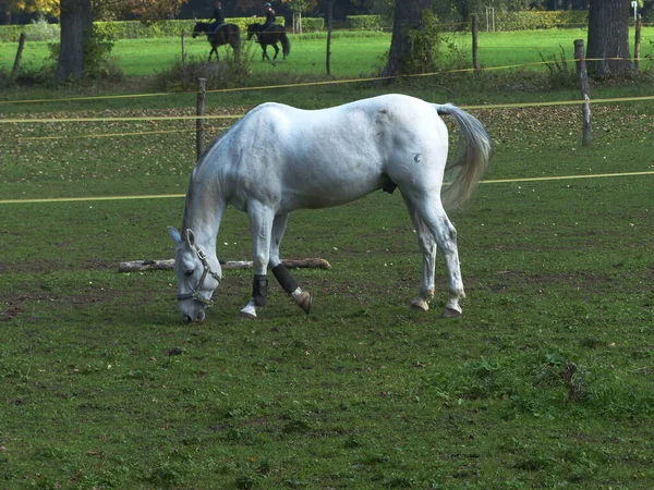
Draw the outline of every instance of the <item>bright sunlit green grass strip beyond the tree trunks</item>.
M486 68L545 61L573 61L574 39L586 39L585 29L549 29L508 33L480 33L480 63ZM471 64L471 35L444 34L443 63L451 68L469 68ZM633 36L630 36L633 42ZM651 63L654 54L654 27L644 27L641 41L643 68ZM254 42L251 41L251 45ZM331 47L331 73L335 76L368 76L379 70L390 45L389 34L354 36L337 33ZM204 58L208 54L205 38L187 38L186 54ZM0 44L0 69L11 70L16 44ZM257 72L294 71L298 73L325 74L326 38L324 35L291 36L291 56L276 65L262 63L261 50L255 46L252 69ZM270 50L272 51L272 50ZM633 52L633 49L631 49ZM220 49L221 57L231 56L228 48ZM23 54L26 69L43 66L48 56L47 42L27 42ZM177 38L130 39L116 42L113 56L126 75L152 75L181 59L181 42ZM281 54L280 54L281 58ZM542 65L532 69L543 70Z

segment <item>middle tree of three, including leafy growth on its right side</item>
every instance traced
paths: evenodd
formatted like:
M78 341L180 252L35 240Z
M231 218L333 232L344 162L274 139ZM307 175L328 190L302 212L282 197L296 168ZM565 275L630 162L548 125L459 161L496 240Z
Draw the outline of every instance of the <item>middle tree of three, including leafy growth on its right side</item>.
M382 72L382 76L395 76L409 73L416 73L422 70L429 70L421 63L419 50L433 48L432 42L437 39L429 39L431 36L416 36L425 32L425 16L432 13L433 0L396 0L393 8L392 36L390 38L390 50L388 51L388 61ZM429 46L425 46L429 42ZM429 60L422 60L428 62ZM422 66L421 66L422 65Z

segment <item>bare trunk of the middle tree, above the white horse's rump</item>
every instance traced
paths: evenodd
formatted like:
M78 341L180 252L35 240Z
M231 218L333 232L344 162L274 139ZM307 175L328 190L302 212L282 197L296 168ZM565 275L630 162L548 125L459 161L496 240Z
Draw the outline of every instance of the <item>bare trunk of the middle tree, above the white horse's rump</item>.
M411 58L408 32L421 28L422 13L432 10L432 3L433 0L395 1L390 50L382 76L401 75L407 72L407 60Z

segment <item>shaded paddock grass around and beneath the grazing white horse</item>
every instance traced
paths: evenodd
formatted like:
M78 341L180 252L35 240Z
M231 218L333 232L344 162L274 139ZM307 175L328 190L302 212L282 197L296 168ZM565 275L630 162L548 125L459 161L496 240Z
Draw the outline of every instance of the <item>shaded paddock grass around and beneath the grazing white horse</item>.
M383 91L534 97L458 82L214 94L208 112ZM271 281L259 319L238 320L251 272L225 271L191 326L172 272L117 271L172 256L181 197L4 203L183 195L193 121L116 118L193 112L183 94L0 106L0 120L113 119L0 124L0 488L654 487L652 101L593 105L589 148L576 106L471 110L495 155L451 215L468 292L453 320L438 318L440 258L433 309L408 309L421 260L398 193L291 217L286 257L332 266L294 272L310 316ZM626 172L643 174L592 176ZM221 258L249 258L242 213L228 210L218 243Z

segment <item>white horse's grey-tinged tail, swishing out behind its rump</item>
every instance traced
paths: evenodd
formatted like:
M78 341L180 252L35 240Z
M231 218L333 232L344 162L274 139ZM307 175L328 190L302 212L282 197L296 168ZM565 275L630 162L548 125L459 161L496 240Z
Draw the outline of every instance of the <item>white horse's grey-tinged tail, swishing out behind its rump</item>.
M476 188L486 172L493 152L491 137L473 115L451 103L436 105L439 115L451 115L459 126L459 158L448 162L445 170L452 177L443 198L448 208L459 208Z

